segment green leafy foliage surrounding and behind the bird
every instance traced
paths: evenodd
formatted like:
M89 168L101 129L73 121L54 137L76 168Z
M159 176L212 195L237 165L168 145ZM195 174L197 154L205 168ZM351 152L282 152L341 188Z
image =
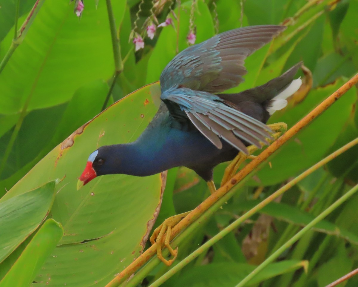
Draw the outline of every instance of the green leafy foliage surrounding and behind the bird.
M154 8L152 2L156 3ZM1 59L14 38L18 3L20 26L35 1L0 0ZM25 38L0 74L0 212L12 214L11 208L19 211L18 216L4 217L5 221L0 216L0 244L17 247L14 252L11 249L0 254L0 258L6 258L0 263L0 286L9 286L6 282L10 282L11 272L19 268L16 260L29 260L29 250L36 245L33 240L40 240L43 234L53 237L43 243L43 257L30 264L37 272L26 273L28 281L24 282L35 282L32 286L105 286L142 252L158 216L164 175L140 180L106 176L80 192L75 189L76 177L98 145L129 142L144 130L158 106L159 85L140 88L158 81L171 58L188 47L190 21L195 26L197 43L241 25L287 25L272 45L247 59L245 82L231 90L265 83L303 61L310 72L300 73L305 87L311 88L309 93L291 99L270 123L285 121L292 126L358 70L357 0L197 0L194 4L181 1L180 10L179 1L112 1L124 68L116 78L109 104L135 92L91 120L105 102L115 64L105 1L99 1L97 8L95 1L84 4L79 19L73 14L74 2L43 1ZM135 52L129 41L134 23L139 27L135 32L144 37L145 21L153 13L159 23L169 15L175 28L158 28L154 39L145 37L144 48ZM175 263L290 178L356 138L356 104L357 89L353 87L271 157L272 168L264 166L223 209L188 236L180 245ZM215 169L217 186L225 167L223 163ZM57 178L61 182L56 186L47 183ZM254 265L357 181L356 146L262 209L163 286L235 286ZM155 225L195 208L208 195L205 182L192 171L170 170ZM358 195L350 198L250 285L324 287L357 268L357 201ZM32 217L24 216L26 212ZM51 219L45 220L47 215ZM63 226L62 239L58 223ZM21 236L11 234L14 226ZM154 282L167 269L163 264L156 267L141 286ZM352 278L341 286L357 284L358 279Z

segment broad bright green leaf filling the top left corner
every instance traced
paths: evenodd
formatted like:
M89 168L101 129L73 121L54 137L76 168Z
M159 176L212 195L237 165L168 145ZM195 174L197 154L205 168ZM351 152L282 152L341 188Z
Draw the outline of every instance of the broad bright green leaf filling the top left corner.
M0 114L58 105L71 99L86 83L109 78L114 71L106 5L86 3L81 20L73 13L74 1L45 1L24 41L6 64L0 77ZM112 3L117 25L125 1ZM24 18L19 21L22 23ZM0 58L13 38L1 44ZM19 72L21 71L21 73ZM21 83L21 85L19 85Z

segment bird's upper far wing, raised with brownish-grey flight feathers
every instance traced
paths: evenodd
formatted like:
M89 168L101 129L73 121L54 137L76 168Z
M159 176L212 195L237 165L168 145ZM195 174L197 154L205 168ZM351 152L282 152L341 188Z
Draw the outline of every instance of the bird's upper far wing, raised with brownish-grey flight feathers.
M161 73L161 91L174 85L211 93L236 87L247 73L245 58L284 29L277 25L233 29L185 49Z

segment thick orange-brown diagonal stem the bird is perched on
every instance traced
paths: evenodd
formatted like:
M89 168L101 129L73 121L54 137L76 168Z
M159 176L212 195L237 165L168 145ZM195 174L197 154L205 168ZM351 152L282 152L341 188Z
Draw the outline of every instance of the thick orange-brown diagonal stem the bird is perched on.
M284 143L296 135L301 129L308 125L311 121L317 118L321 113L323 113L329 106L331 106L335 101L337 101L345 92L347 92L353 85L358 82L358 74L353 76L348 82L346 82L342 87L325 99L321 104L319 104L315 109L313 109L308 115L296 123L292 128L286 131L279 139L267 147L261 154L259 154L255 159L248 163L243 169L241 169L231 180L229 180L224 186L219 188L215 193L209 196L204 200L197 208L195 208L190 214L188 214L182 221L172 229L171 239L178 235L182 230L187 228L188 225L193 223L204 211L208 210L209 207L215 204L219 198L225 195L231 188L236 185L238 182L242 181L249 173L251 173L259 164L263 163L272 153L279 149ZM220 206L220 205L219 205ZM218 206L218 208L219 208ZM142 267L150 258L156 254L156 243L148 248L143 254L140 255L134 262L127 266L124 271L118 274L115 278L112 279L106 287L117 287L119 284L124 282L131 274L136 272L140 267Z

